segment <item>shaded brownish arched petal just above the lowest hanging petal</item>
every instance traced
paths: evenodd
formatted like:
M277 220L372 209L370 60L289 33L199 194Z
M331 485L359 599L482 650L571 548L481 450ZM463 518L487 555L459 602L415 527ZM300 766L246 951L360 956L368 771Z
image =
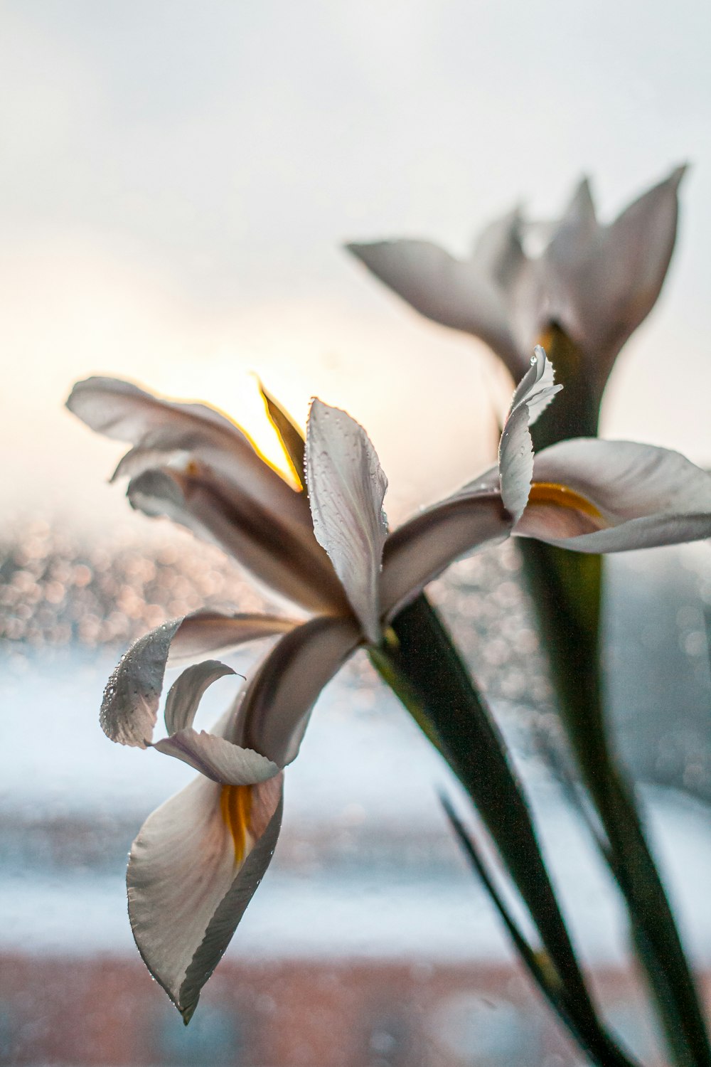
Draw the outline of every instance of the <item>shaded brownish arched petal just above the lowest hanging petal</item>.
M361 640L353 618L310 619L286 634L249 683L240 744L280 767L291 763L319 694Z

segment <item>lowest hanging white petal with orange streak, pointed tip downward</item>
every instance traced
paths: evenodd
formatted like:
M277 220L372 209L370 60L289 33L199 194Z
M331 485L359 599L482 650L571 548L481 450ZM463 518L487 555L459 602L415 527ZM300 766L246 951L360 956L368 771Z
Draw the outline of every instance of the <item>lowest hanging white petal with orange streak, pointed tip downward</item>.
M242 786L199 777L155 811L133 842L133 936L185 1022L269 866L281 795L281 775Z

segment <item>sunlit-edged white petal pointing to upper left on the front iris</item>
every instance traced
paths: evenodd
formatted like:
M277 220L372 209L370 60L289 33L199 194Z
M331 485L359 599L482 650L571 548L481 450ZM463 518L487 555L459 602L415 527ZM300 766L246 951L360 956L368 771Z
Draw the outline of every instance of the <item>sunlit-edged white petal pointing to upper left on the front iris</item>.
M310 527L304 494L296 493L230 419L204 404L151 396L130 382L88 378L78 382L68 409L98 433L130 441L114 477L135 477L171 461L205 463L233 489L278 515L282 525Z

